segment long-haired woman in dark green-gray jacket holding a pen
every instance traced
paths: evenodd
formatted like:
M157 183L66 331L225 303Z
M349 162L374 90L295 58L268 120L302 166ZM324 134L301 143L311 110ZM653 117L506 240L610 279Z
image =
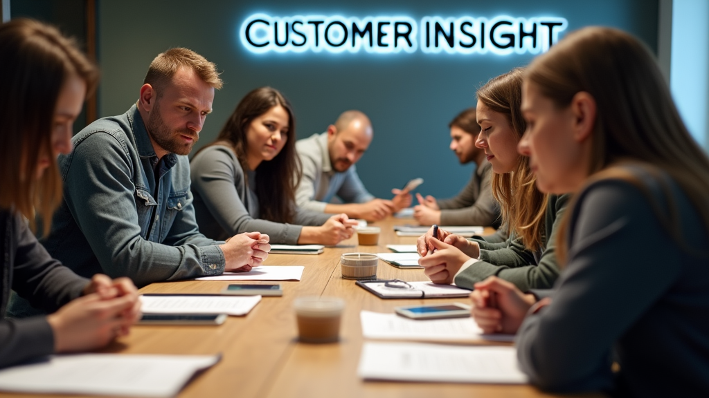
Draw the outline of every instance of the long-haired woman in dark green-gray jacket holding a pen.
M492 192L500 203L506 241L467 240L440 230L418 239L419 263L435 283L455 283L472 289L491 275L522 290L551 288L559 275L554 237L568 195L537 190L527 158L517 152L526 129L520 113L524 70L513 69L491 79L477 91L481 132L476 146L492 164ZM432 252L435 249L435 252Z

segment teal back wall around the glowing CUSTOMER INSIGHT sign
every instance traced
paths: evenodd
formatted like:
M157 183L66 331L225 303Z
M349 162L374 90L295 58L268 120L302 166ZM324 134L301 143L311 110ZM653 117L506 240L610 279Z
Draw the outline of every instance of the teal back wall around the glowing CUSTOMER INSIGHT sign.
M238 41L240 22L252 13L272 16L342 15L557 16L566 32L609 25L637 35L657 50L657 1L218 1L99 0L99 116L123 113L138 99L148 64L168 47L189 47L223 71L198 146L211 142L236 104L251 89L273 86L293 103L298 137L323 132L342 110L356 108L374 124L374 142L357 164L374 195L389 197L410 178L418 191L454 195L470 178L448 149L447 124L475 104L475 90L488 79L530 62L530 55L331 55L247 53Z

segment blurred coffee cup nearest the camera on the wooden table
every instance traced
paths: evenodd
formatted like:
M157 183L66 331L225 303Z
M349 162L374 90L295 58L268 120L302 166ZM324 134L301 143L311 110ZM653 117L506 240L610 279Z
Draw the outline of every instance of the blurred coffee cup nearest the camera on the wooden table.
M298 297L293 307L300 341L332 343L340 339L340 318L345 300L338 297Z

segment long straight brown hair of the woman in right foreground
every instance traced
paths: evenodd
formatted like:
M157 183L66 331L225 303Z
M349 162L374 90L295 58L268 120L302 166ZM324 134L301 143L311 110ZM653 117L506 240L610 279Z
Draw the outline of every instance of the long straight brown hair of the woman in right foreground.
M633 183L649 200L655 215L677 243L693 254L681 237L681 225L664 173L686 193L709 228L709 159L686 129L654 57L640 40L612 28L584 28L569 34L527 69L525 79L542 96L566 108L576 93L596 100L588 183L616 178ZM669 212L640 178L623 168L628 162L649 171L659 182ZM573 207L575 203L571 203ZM558 234L557 256L566 260L567 211Z

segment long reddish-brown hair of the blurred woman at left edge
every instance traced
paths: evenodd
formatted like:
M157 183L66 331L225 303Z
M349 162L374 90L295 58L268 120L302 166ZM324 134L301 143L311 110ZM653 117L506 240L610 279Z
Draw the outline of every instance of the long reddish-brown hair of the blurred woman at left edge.
M0 25L0 59L0 208L20 212L33 228L39 215L47 234L62 179L56 161L39 180L35 175L40 155L52 154L57 98L72 75L93 93L99 72L74 40L25 18Z

